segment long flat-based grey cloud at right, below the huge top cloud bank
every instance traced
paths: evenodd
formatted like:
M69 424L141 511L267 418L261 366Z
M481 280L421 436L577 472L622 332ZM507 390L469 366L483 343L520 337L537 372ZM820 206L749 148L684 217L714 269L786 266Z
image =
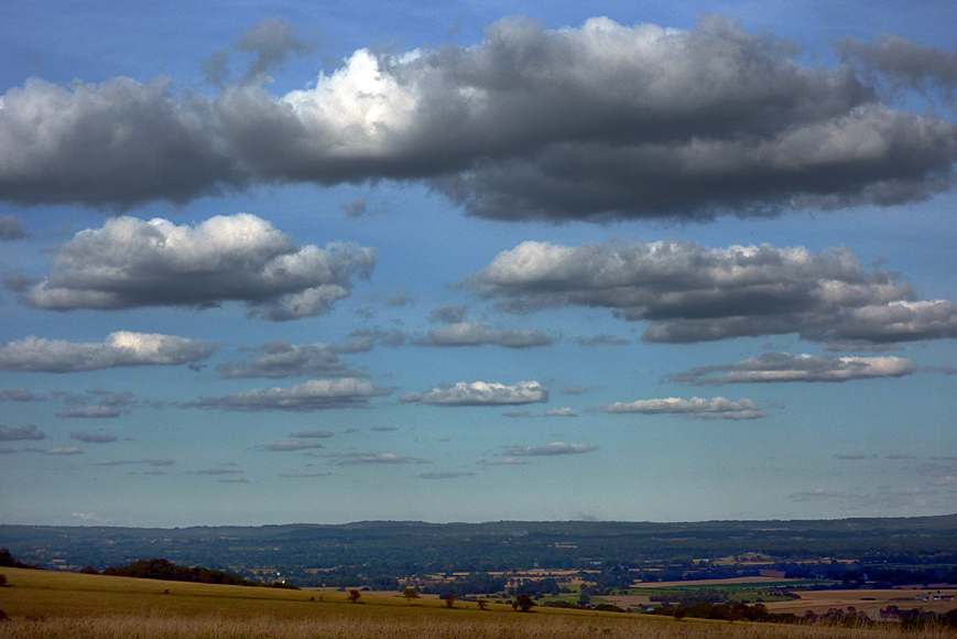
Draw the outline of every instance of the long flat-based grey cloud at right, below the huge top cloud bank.
M694 242L524 242L460 285L532 312L598 306L646 321L645 342L694 343L796 333L833 348L957 337L957 304L920 301L895 273L867 271L846 247Z

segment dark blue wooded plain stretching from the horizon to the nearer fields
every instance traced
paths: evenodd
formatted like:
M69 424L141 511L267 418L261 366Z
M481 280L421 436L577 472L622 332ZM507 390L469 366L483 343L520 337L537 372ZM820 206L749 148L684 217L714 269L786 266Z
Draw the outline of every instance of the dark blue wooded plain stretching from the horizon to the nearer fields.
M594 571L675 581L758 568L855 584L957 583L957 516L826 521L423 523L340 526L0 526L0 546L46 568L164 557L259 582L398 587L424 575ZM729 560L730 557L730 560ZM760 557L761 565L753 560ZM478 577L476 577L478 578ZM491 586L491 584L490 584ZM496 587L499 584L496 583Z

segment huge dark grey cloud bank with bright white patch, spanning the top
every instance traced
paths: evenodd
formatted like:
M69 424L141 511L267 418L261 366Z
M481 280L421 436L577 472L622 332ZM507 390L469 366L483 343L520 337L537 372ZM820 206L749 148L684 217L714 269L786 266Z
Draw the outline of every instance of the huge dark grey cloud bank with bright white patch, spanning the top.
M8 90L0 198L126 207L393 178L489 218L603 220L890 205L954 182L954 123L895 111L849 64L806 66L721 18L688 31L505 20L471 47L357 51L284 96L249 80L302 48L287 25L241 45L257 61L216 96L128 78Z

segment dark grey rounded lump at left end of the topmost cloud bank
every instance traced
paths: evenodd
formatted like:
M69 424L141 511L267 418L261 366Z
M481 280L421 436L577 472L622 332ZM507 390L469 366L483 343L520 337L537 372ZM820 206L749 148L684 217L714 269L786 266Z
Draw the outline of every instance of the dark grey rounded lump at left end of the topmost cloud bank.
M217 141L214 105L174 96L170 78L57 86L2 96L0 197L126 208L186 203L248 181Z

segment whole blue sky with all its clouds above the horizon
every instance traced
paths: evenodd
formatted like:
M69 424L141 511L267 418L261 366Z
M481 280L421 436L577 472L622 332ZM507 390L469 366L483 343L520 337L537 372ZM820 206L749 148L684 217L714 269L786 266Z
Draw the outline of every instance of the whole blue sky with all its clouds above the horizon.
M957 511L957 6L0 9L0 522Z

